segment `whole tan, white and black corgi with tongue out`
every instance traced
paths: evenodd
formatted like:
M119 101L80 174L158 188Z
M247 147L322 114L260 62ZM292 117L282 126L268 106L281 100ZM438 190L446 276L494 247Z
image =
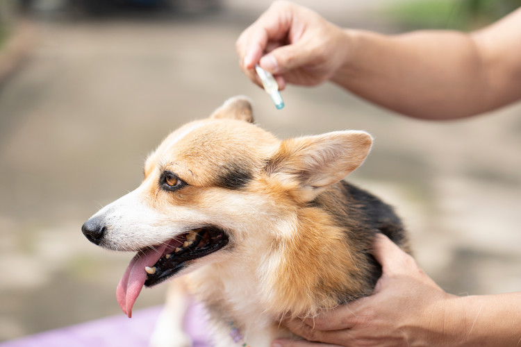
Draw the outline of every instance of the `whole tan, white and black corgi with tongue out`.
M175 279L154 346L190 346L188 291L208 310L215 346L267 347L292 337L283 317L372 293L377 232L408 251L392 208L343 181L371 146L354 130L281 141L253 124L249 99L235 96L166 137L141 185L82 231L104 248L136 252L117 286L129 317L143 286Z

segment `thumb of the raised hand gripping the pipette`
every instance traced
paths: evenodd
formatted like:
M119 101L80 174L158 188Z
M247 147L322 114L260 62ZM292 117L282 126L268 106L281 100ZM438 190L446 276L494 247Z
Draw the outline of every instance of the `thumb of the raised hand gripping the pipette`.
M280 46L267 53L259 60L258 65L272 74L280 75L305 65L309 60L310 54L306 48L302 44L295 43Z

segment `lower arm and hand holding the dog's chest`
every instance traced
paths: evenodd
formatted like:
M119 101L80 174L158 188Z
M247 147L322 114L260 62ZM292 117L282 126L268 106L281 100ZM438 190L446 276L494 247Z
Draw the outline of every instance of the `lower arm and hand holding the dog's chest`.
M520 345L521 292L450 295L387 237L377 237L373 253L383 275L372 296L285 325L309 341L333 346ZM324 344L275 340L272 346L328 346Z

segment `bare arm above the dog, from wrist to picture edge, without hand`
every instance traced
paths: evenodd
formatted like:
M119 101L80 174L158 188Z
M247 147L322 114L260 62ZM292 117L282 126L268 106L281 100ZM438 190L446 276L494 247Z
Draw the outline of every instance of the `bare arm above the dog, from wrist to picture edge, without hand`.
M474 33L344 33L351 49L333 81L385 108L453 119L521 99L521 8Z

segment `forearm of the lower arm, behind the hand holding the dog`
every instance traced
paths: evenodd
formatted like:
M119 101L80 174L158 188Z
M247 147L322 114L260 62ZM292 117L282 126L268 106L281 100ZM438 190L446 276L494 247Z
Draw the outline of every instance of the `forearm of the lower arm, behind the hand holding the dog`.
M444 300L424 305L417 314L399 322L409 346L521 346L521 292L447 294Z

